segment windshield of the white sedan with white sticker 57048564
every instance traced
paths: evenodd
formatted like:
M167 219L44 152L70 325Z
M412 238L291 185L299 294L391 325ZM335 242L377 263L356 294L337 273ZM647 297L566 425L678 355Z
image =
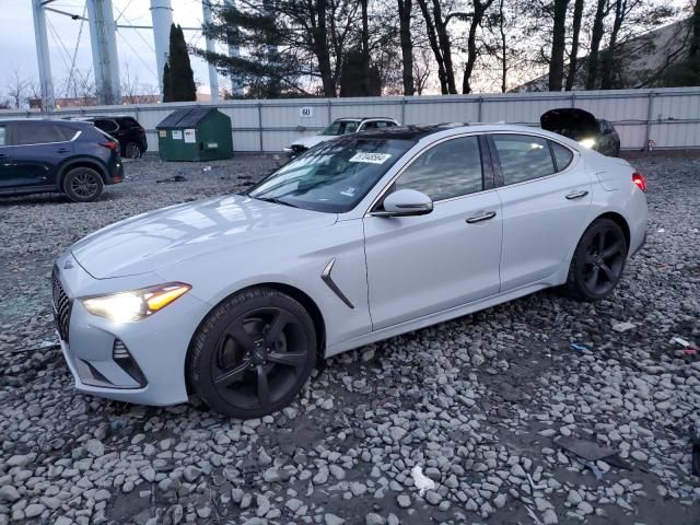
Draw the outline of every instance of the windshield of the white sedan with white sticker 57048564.
M359 136L324 142L283 165L247 195L314 211L350 211L413 143Z

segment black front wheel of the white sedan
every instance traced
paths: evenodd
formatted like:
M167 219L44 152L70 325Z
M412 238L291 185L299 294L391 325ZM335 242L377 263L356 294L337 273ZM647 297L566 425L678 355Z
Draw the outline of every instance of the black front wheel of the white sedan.
M270 288L240 292L217 306L192 338L187 378L212 410L260 418L291 402L316 361L306 310Z

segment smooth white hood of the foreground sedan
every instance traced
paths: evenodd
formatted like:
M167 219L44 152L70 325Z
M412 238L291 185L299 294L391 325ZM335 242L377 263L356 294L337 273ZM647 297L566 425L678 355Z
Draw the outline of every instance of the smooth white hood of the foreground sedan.
M100 230L71 247L95 279L158 271L244 243L331 225L335 213L291 208L234 195L177 205Z

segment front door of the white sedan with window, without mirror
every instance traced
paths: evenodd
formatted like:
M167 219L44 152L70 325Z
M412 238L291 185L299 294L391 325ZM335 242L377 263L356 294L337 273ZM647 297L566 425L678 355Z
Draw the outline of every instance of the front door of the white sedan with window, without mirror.
M422 191L433 211L364 219L374 330L498 293L501 202L494 189L483 189L481 159L475 136L431 147L389 191Z

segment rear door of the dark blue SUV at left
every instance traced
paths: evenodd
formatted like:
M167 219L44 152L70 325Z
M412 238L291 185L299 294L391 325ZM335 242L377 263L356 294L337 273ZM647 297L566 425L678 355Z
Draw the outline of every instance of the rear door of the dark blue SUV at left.
M55 186L58 166L73 153L72 128L51 121L14 122L10 170L15 188Z

